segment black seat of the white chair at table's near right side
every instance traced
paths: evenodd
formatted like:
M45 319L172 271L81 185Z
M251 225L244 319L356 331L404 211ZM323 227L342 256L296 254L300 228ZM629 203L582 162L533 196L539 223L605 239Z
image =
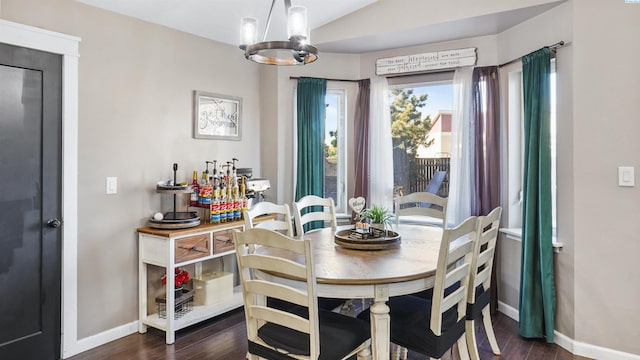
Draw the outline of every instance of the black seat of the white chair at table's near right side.
M456 321L457 307L443 315L442 335L430 329L431 300L406 295L392 297L387 303L391 317L391 342L430 357L440 358L464 334L464 319ZM368 320L369 309L358 318Z

